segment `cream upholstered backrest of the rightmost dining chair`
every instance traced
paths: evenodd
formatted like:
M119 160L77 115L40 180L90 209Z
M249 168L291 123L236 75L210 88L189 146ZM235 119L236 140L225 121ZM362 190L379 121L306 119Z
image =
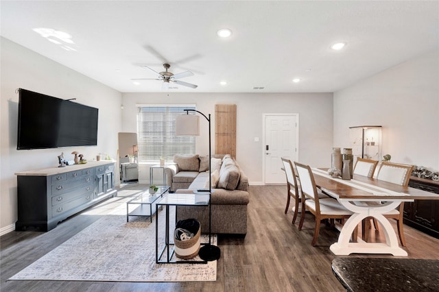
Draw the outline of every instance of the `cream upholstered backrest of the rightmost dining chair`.
M412 174L413 165L401 165L399 163L382 162L379 167L377 179L393 184L407 186L410 175Z

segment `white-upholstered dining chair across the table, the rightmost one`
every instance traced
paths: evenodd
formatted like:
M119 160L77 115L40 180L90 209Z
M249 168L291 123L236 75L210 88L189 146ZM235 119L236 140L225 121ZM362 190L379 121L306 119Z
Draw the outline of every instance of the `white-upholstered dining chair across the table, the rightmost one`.
M391 182L392 184L399 184L401 186L407 186L409 184L410 175L412 174L413 165L402 165L399 163L382 162L377 173L377 179L385 182ZM404 202L401 202L399 208L396 208L390 212L384 213L386 218L392 218L396 220L396 226L398 228L399 241L401 245L405 246L405 237L403 230L403 215L404 215Z

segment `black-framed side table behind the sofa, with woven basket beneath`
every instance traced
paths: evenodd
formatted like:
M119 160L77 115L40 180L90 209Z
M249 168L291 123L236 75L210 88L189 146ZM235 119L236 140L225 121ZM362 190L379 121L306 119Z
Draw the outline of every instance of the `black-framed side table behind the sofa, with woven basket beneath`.
M165 245L161 249L161 252L158 251L158 216L156 217L156 263L201 263L206 264L206 260L172 260L172 257L175 256L174 250L174 230L172 230L172 240L169 239L169 208L171 206L209 206L210 196L209 194L176 194L176 193L167 193L160 201L156 203L156 210L158 210L158 206L165 206L166 209L166 222L165 222ZM177 220L177 214L175 221ZM174 224L175 225L175 224ZM203 231L203 230L202 230ZM201 243L201 245L206 245L209 243ZM164 253L166 251L166 258L164 257Z

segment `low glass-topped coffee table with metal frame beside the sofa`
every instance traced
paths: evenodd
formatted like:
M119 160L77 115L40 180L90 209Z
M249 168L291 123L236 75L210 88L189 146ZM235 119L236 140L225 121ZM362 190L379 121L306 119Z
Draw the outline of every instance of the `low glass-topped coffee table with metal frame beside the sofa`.
M169 186L160 186L154 194L150 194L150 188L147 188L140 195L137 195L126 203L126 221L129 221L130 216L145 216L150 217L152 223L152 215L156 211L157 199L163 197L163 194L169 191Z

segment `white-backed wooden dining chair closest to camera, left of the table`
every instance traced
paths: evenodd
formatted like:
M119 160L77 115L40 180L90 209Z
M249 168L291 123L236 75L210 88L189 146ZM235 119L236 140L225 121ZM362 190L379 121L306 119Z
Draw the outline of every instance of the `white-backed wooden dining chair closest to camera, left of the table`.
M300 213L299 230L302 230L303 221L305 220L305 210L309 210L316 217L316 226L311 245L315 246L320 231L320 221L323 219L348 219L353 212L346 209L336 199L331 199L322 194L316 187L311 167L294 162L298 178L300 181L300 193L302 195L302 212ZM356 230L356 229L355 229ZM357 232L354 232L353 238L357 238Z

